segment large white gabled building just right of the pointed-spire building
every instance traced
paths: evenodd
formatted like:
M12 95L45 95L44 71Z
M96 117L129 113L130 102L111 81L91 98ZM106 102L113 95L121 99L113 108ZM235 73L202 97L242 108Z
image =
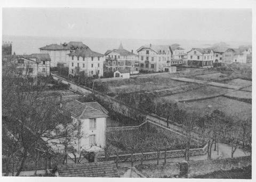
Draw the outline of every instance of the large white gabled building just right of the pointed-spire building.
M141 46L137 49L139 56L140 70L164 71L170 66L172 51L169 45Z

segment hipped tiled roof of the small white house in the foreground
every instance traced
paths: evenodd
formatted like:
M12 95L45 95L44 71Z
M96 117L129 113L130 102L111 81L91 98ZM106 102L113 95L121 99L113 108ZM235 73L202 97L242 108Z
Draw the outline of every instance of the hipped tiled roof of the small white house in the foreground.
M102 107L98 102L79 102L77 100L68 102L63 106L63 110L66 110L78 119L89 118L106 118L108 117L108 111Z

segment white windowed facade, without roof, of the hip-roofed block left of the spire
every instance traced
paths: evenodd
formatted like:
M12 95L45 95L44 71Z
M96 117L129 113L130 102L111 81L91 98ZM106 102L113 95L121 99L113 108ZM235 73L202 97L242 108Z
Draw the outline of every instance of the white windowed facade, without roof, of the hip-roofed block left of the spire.
M103 76L103 62L105 56L72 56L69 55L69 75L75 75L77 67L79 72L84 71L87 77Z

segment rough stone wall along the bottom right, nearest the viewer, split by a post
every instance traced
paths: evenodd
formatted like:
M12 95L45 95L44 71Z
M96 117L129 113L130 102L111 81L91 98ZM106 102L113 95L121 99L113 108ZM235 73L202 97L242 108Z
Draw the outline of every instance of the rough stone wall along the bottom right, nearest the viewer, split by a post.
M233 168L242 168L252 165L251 156L243 156L238 158L201 160L188 162L188 178L193 178L198 175L206 175L219 170L231 170ZM136 168L146 177L163 178L180 175L180 163L167 162L166 164L143 164Z

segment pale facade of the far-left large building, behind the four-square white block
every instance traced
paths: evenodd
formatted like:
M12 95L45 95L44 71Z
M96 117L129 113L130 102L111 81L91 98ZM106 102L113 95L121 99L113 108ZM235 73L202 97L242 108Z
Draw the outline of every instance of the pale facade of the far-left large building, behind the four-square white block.
M50 67L57 67L58 63L62 63L64 67L68 67L68 61L70 53L69 50L66 49L60 49L60 50L45 50L40 49L40 53L42 54L49 54L51 57L51 65Z

